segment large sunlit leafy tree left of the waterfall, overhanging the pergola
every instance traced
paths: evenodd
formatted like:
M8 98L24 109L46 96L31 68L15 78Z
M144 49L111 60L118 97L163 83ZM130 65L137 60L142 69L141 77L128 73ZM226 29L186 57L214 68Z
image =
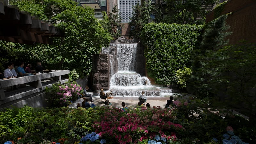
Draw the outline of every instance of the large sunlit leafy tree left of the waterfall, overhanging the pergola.
M47 55L51 56L48 60L50 63L57 61L55 65L58 65L58 69L75 69L80 76L83 73L88 75L92 54L99 53L110 42L110 34L94 18L93 9L77 6L72 0L10 0L10 4L46 19L64 32L64 37L54 38L54 45L50 49L42 44L31 47L34 51L49 50L46 50Z

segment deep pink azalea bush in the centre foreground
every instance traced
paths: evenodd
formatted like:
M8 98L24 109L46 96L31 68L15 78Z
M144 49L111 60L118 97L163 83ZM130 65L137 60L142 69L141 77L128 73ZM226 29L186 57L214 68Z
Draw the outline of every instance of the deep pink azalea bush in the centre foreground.
M128 108L127 113L121 108L95 108L95 121L92 124L100 139L107 143L146 143L159 136L162 142L177 141L176 132L185 130L180 124L172 123L171 109Z

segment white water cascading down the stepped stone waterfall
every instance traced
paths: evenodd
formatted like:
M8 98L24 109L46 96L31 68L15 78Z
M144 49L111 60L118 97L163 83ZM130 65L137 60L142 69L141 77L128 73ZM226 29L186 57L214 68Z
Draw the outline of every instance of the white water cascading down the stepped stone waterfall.
M116 97L138 97L142 91L152 97L172 93L172 89L152 86L147 77L142 77L135 72L137 44L110 44L109 46L117 48L118 71L114 75L111 74L110 80L110 91ZM107 50L104 49L102 52L107 53Z

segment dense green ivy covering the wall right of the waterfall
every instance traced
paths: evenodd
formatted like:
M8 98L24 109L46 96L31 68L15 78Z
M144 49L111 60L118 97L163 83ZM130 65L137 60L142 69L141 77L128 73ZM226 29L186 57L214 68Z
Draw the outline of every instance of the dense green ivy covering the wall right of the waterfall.
M147 24L142 31L148 74L156 83L176 84L176 71L187 67L202 26Z

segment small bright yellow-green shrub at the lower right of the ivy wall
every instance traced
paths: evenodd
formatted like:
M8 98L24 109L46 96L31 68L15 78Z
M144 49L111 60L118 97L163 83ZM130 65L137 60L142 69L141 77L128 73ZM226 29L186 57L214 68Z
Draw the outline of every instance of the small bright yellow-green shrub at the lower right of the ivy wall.
M180 85L181 88L185 88L187 85L187 81L190 78L192 73L191 68L184 68L184 69L179 69L176 71L176 77L177 77L177 84Z

